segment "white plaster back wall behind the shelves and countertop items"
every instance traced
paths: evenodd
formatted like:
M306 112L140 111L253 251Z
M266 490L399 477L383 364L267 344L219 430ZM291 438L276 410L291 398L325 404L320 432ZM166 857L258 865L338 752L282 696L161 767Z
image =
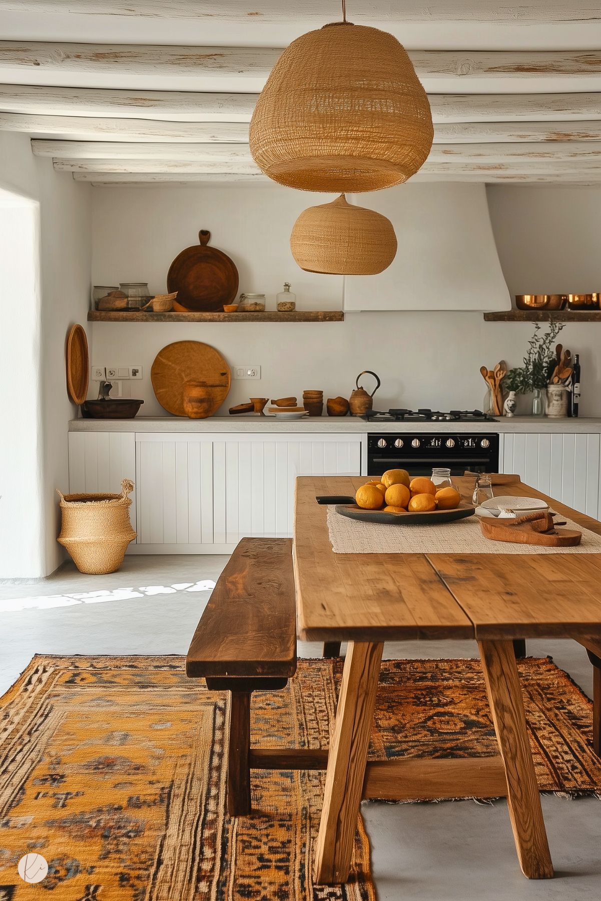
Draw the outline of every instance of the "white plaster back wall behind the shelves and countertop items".
M488 196L512 294L551 290L533 287L548 268L562 284L570 281L574 259L578 272L587 262L587 290L601 287L596 188L495 187ZM278 187L96 188L92 282L148 280L152 292L162 292L171 260L208 228L214 245L240 269L241 290L265 291L274 308L275 294L288 280L298 308L340 308L341 279L302 272L288 247L296 215L323 200ZM565 220L567 206L572 212ZM558 228L548 245L538 237L545 229L557 235ZM382 379L377 407L473 408L485 393L479 367L498 359L518 365L532 330L531 323L485 323L480 313L434 312L351 313L344 323L95 323L92 362L142 365L142 381L124 386L143 398L143 415L163 413L150 385L152 360L170 341L184 339L213 344L232 366L261 366L260 381L232 382L221 413L250 395L300 400L305 388L323 388L325 397L349 396L361 369L374 369ZM562 335L581 354L582 415L601 415L600 340L601 327L587 323L570 323ZM90 394L95 391L93 383Z

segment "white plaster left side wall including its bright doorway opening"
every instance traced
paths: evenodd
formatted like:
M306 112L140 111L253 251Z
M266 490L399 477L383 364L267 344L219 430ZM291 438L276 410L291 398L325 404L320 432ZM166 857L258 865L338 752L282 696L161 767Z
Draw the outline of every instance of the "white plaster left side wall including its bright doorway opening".
M56 487L68 490L65 340L89 306L91 189L29 137L0 132L3 281L0 335L0 579L38 578L64 559ZM20 199L21 198L21 199ZM15 265L9 266L10 263Z

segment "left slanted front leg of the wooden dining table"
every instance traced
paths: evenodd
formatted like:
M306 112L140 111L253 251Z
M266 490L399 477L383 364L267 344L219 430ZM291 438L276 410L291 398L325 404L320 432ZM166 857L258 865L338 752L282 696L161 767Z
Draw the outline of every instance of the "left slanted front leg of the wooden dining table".
M349 878L383 648L349 642L315 848L317 884Z

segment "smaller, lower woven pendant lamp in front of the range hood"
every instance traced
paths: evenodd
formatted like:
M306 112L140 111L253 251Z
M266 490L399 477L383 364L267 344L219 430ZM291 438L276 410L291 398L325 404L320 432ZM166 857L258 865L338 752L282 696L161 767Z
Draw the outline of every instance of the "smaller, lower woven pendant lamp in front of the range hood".
M349 204L341 195L299 215L290 250L306 272L374 276L395 259L396 235L386 216Z

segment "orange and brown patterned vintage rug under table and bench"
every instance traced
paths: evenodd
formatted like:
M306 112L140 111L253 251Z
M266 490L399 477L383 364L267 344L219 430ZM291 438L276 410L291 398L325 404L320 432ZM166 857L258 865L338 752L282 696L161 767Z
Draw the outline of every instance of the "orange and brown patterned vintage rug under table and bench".
M598 793L590 702L551 660L520 671L541 788ZM327 746L340 672L299 660L258 693L257 742ZM478 661L387 660L381 683L372 756L496 752ZM362 820L351 882L312 885L323 774L255 771L255 813L223 813L225 714L180 657L34 658L0 707L0 901L372 901Z

